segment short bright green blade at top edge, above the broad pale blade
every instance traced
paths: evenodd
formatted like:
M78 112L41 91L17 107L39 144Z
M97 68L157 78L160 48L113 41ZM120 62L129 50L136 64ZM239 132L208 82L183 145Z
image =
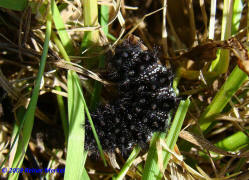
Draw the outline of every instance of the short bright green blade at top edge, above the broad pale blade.
M52 1L55 4L55 0L52 0ZM53 11L54 11L53 21L54 21L56 30L58 32L58 35L61 39L62 45L67 51L67 54L72 55L74 52L73 42L69 34L66 31L65 24L61 18L60 11L56 4L54 5Z

